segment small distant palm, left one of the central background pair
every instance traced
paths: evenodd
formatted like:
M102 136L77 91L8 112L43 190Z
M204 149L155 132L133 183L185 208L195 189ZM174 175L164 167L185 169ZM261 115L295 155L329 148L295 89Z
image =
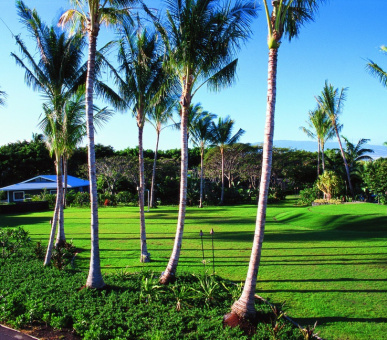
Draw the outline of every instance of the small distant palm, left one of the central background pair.
M191 128L191 140L194 145L200 148L200 199L199 208L203 208L203 184L204 184L204 152L206 147L214 139L212 133L212 120L216 118L215 114L207 111L197 117Z

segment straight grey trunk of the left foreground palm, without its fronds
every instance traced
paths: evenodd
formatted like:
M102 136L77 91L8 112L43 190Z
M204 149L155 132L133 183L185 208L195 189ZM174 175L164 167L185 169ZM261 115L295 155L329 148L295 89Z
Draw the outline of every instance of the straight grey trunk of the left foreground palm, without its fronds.
M91 206L91 252L89 275L86 281L88 288L102 288L105 282L101 273L101 262L99 256L98 236L98 196L97 196L97 175L95 166L94 149L94 122L93 122L93 88L95 79L95 54L97 49L97 35L89 32L89 56L87 61L86 79L86 128L87 128L87 161L89 164L90 182L90 206Z

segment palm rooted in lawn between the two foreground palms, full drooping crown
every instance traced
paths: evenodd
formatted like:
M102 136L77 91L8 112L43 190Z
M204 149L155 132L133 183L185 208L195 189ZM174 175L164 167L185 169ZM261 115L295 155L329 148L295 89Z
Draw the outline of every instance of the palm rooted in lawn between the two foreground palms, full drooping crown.
M117 71L112 68L112 72L126 107L132 107L138 127L141 262L150 261L145 230L143 131L146 115L157 102L160 88L166 80L163 58L155 33L149 33L146 29L132 29L128 25L122 27L118 50L119 68ZM120 73L123 73L123 78Z

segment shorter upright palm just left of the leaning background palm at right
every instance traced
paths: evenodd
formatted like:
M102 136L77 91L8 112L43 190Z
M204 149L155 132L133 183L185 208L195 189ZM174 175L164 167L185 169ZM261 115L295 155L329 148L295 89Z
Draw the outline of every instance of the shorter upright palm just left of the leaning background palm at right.
M301 126L300 129L306 133L310 138L317 139L318 151L317 151L317 177L320 175L320 153L322 171L325 170L324 149L325 142L331 139L335 130L333 129L332 122L327 114L321 110L316 109L309 111L309 119L307 121L308 127Z

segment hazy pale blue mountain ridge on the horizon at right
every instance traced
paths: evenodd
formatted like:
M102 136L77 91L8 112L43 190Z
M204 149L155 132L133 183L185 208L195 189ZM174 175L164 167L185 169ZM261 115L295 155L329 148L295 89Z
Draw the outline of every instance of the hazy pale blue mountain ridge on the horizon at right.
M258 143L258 144L262 144L262 143ZM290 148L290 149L305 150L310 152L317 151L316 141L275 140L274 146L277 148ZM343 146L345 147L344 141L343 141ZM325 150L338 149L338 148L339 148L338 142L325 143ZM380 157L387 157L387 146L365 144L364 148L374 150L374 153L369 154L373 159L377 159Z

